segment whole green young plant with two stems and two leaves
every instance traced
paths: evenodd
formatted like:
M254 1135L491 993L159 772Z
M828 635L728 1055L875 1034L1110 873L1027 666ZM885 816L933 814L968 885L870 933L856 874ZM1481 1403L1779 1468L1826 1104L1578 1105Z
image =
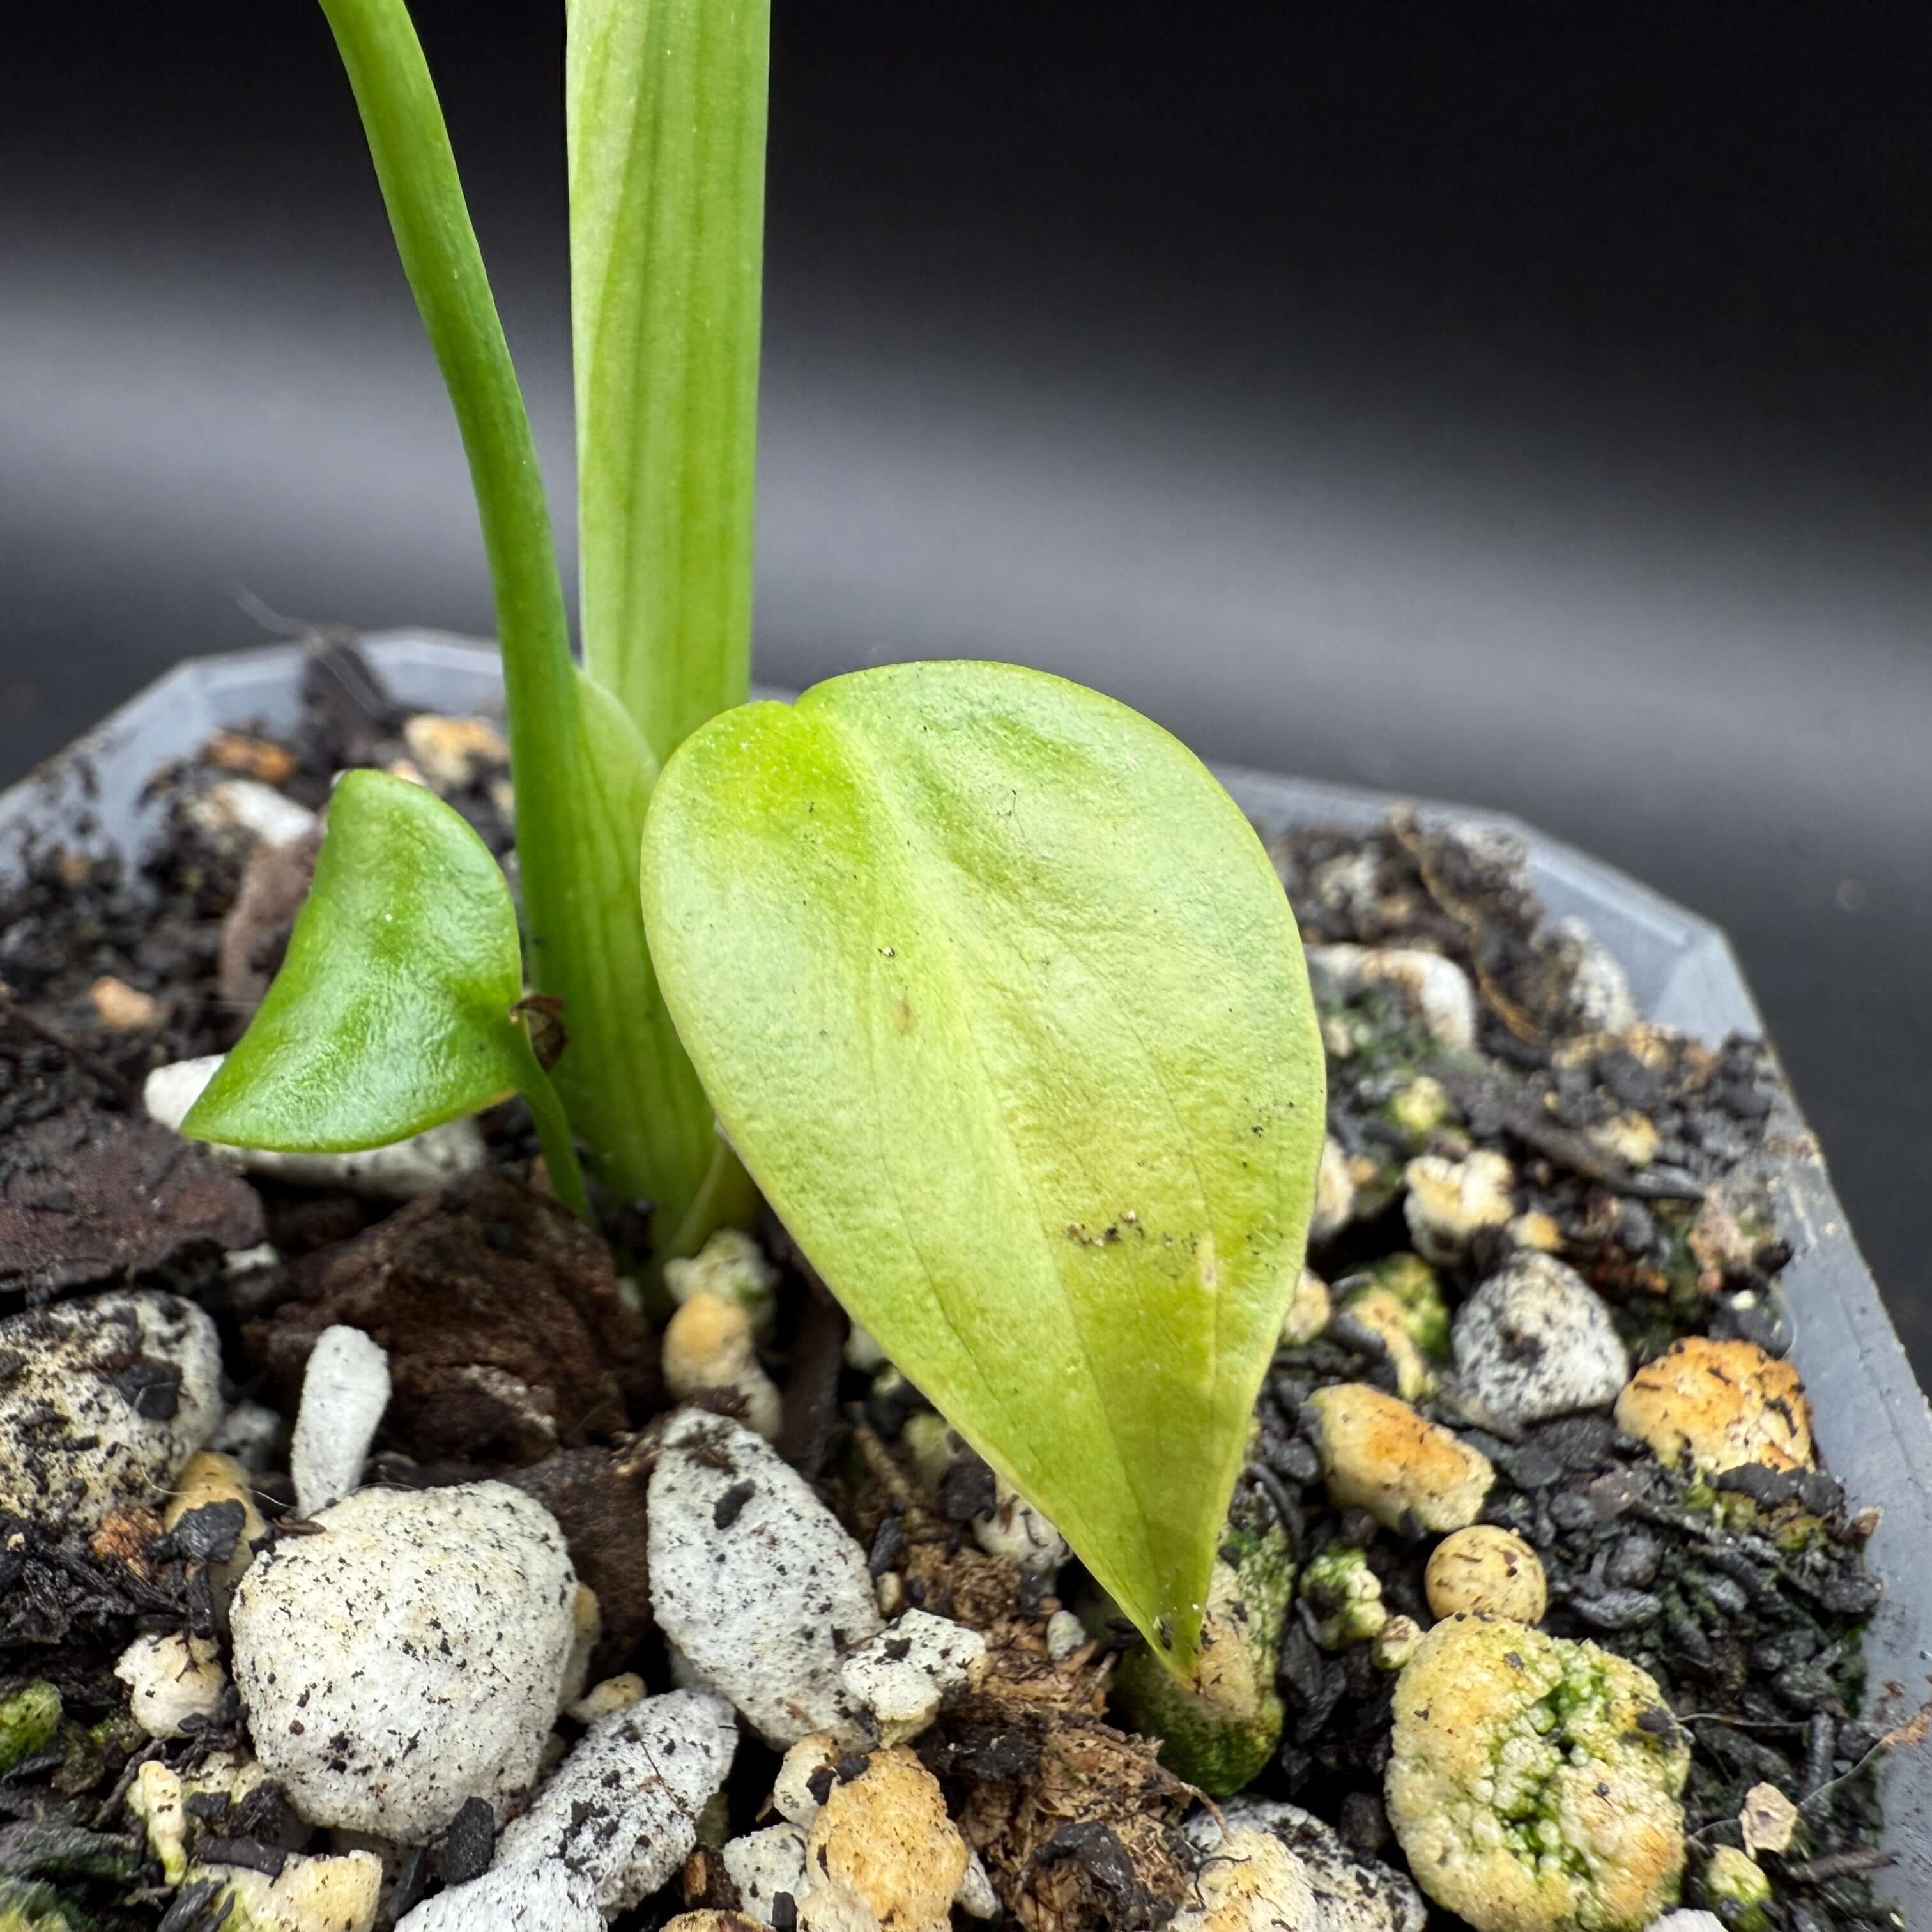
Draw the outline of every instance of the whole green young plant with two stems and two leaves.
M740 703L765 0L570 0L580 670L421 48L402 0L323 6L475 479L527 947L454 811L348 775L282 974L187 1130L379 1146L520 1092L560 1198L589 1213L580 1136L661 1204L661 1252L752 1206L742 1157L1192 1673L1323 1130L1254 831L1155 724L1039 672ZM554 1088L526 972L562 1001Z

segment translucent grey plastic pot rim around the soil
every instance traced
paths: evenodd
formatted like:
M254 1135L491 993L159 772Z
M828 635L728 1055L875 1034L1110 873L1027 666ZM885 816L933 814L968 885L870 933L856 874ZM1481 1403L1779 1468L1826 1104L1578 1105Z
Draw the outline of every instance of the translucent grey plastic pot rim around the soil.
M390 632L367 639L367 649L406 703L462 713L491 711L502 701L489 647L431 632ZM294 724L299 668L298 645L176 667L0 796L0 873L17 866L21 842L33 831L71 829L83 819L89 842L139 850L155 829L153 810L141 800L153 771L193 752L220 726ZM1269 835L1316 819L1366 827L1397 802L1260 771L1223 769L1221 779ZM1762 1036L1750 989L1723 933L1708 920L1517 819L1449 806L1426 810L1522 838L1530 881L1544 902L1557 916L1580 918L1609 947L1650 1018L1708 1039ZM1797 1331L1793 1358L1816 1405L1818 1441L1851 1495L1884 1511L1870 1546L1870 1561L1886 1582L1884 1604L1866 1633L1870 1679L1874 1690L1899 1683L1901 1704L1913 1708L1932 1669L1932 1410L1832 1192L1818 1144L1789 1094L1774 1117L1772 1146L1783 1192L1779 1225L1797 1248L1781 1277ZM1891 1758L1886 1806L1886 1843L1897 1864L1882 1874L1880 1886L1909 1917L1932 1918L1932 1750Z

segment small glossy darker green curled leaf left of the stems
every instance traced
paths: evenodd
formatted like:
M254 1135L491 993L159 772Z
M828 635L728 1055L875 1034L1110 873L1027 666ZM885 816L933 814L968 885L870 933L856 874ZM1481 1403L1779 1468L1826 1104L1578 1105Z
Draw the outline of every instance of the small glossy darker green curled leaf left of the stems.
M336 1153L475 1113L529 1084L522 995L489 846L423 786L352 771L282 970L182 1132Z

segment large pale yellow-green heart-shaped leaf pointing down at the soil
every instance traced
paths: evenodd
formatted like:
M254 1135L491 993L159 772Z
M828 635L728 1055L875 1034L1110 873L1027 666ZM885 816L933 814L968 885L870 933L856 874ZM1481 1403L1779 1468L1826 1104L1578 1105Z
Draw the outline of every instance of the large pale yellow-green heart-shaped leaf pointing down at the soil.
M1233 800L1076 684L866 670L686 740L643 906L813 1265L1190 1671L1323 1119L1294 920Z

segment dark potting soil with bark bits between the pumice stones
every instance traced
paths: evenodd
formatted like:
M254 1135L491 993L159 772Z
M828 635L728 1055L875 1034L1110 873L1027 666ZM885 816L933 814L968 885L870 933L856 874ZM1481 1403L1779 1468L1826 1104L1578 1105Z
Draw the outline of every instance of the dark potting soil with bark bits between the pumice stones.
M487 734L423 771L425 740L344 639L313 653L307 696L294 736L224 732L156 775L166 837L139 866L79 860L48 840L0 898L0 1316L129 1281L199 1302L220 1331L226 1399L284 1424L255 1474L269 1538L303 1532L286 1424L309 1350L332 1325L361 1329L388 1352L394 1383L369 1480L497 1476L539 1499L603 1607L591 1679L636 1671L661 1689L670 1663L651 1619L643 1501L647 1432L668 1403L659 1339L605 1244L531 1188L520 1109L485 1117L487 1169L408 1204L243 1179L143 1115L155 1066L240 1036L313 864L313 837L263 846L224 825L205 810L213 788L245 779L317 810L344 765L406 767L510 852L506 769ZM1824 1470L1750 1466L1714 1482L1665 1464L1604 1408L1478 1428L1435 1385L1439 1360L1416 1383L1387 1333L1350 1314L1378 1269L1414 1264L1418 1246L1434 1244L1449 1320L1513 1254L1534 1250L1602 1298L1633 1366L1685 1335L1781 1356L1789 1246L1764 1184L1768 1057L1750 1041L1640 1024L1586 935L1544 918L1505 842L1399 817L1372 835L1294 833L1275 860L1310 947L1437 954L1474 1003L1470 1037L1445 1039L1399 985L1318 974L1343 1200L1310 1269L1329 1312L1275 1356L1231 1532L1279 1526L1304 1565L1358 1549L1385 1609L1426 1629L1434 1538L1408 1519L1389 1528L1335 1509L1318 1428L1323 1389L1405 1395L1493 1464L1482 1520L1538 1553L1544 1629L1656 1679L1665 1721L1692 1750L1685 1903L1702 1903L1708 1855L1739 1843L1748 1793L1774 1785L1803 1830L1760 1855L1764 1922L1893 1924L1876 1903L1872 1770L1884 1750L1911 1748L1922 1721L1915 1729L1899 1687L1862 1681L1857 1633L1876 1584L1861 1563L1872 1524L1859 1499ZM1418 1229L1412 1163L1470 1175L1480 1155L1505 1163L1492 1175L1505 1206L1464 1202L1463 1223L1451 1213ZM632 1238L636 1215L611 1206L612 1233ZM985 1636L985 1681L914 1750L1003 1913L1047 1932L1165 1924L1202 1862L1182 1832L1200 1804L1124 1727L1115 1675L1132 1633L1092 1617L1078 1565L1041 1578L980 1546L991 1472L964 1449L937 1476L922 1470L920 1393L889 1364L854 1366L842 1318L782 1229L765 1229L765 1248L781 1269L777 1327L761 1343L784 1399L781 1453L869 1553L883 1598ZM0 1360L0 1403L10 1374ZM744 1406L730 1393L707 1401ZM0 1520L0 1710L41 1685L58 1698L44 1735L0 1770L0 1922L199 1932L199 1907L162 1882L124 1801L143 1762L189 1772L214 1752L247 1752L245 1712L230 1690L187 1735L149 1737L114 1663L143 1634L226 1642L214 1578L240 1524L224 1540L224 1522L197 1526L197 1511L164 1532L164 1497L151 1501L87 1536ZM1090 1611L1072 1648L1051 1638L1068 1607ZM1277 1656L1281 1739L1252 1795L1304 1806L1350 1855L1401 1870L1383 1803L1395 1681L1376 1642L1335 1640L1304 1592ZM728 1818L713 1818L684 1872L620 1924L738 1903L717 1843L769 1822L759 1810L775 1768L748 1739ZM309 1843L272 1781L216 1824L220 1859L240 1866L280 1870ZM481 1808L427 1853L392 1857L383 1920L475 1876L489 1847ZM1733 1907L1719 1917L1741 1922ZM1432 1926L1459 1922L1432 1907Z

